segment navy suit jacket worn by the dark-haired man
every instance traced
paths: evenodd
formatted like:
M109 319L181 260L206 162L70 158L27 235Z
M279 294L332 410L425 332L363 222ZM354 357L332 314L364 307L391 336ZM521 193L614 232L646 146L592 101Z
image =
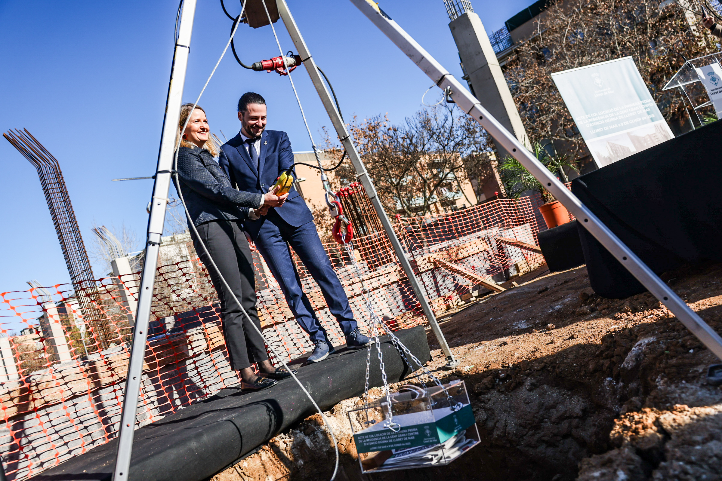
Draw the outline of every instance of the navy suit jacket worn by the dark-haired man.
M238 186L238 190L265 194L269 191L269 187L276 183L276 179L281 175L281 172L293 164L291 142L285 132L264 131L261 134L259 154L261 172L258 172L258 166L251 161L251 156L248 155L248 150L243 145L243 141L245 141L245 137L239 133L223 144L221 148L225 152L225 157L222 156L219 159L220 166L230 177L232 185ZM295 170L293 171L293 177L297 178ZM281 219L294 227L303 226L303 224L313 221L313 214L295 187L291 187L284 205L269 209L269 211L272 210L276 211ZM261 219L257 221L245 220L245 230L248 231L248 234L251 234L253 240L256 240L258 231L266 220L266 216L261 216Z

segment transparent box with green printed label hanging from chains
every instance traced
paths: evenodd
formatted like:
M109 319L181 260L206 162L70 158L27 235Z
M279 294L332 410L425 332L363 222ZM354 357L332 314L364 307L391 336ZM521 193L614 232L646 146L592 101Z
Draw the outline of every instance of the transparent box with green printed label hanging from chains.
M464 381L422 388L404 386L349 410L361 471L436 467L479 444L479 430Z

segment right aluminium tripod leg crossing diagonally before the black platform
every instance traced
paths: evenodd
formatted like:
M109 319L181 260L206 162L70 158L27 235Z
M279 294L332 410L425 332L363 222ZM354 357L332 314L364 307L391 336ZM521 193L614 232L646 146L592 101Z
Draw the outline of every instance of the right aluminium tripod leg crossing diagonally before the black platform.
M669 288L653 271L630 250L614 232L609 230L581 201L565 187L556 176L549 172L536 157L506 128L503 127L479 103L461 83L446 71L429 53L408 33L388 17L371 0L351 0L368 19L373 22L397 47L408 56L419 69L422 69L441 89L451 88L451 98L464 112L471 115L484 129L499 141L521 164L542 182L554 197L559 199L568 211L574 214L579 224L584 226L620 264L624 265L648 290L661 301L667 309L684 324L692 334L702 341L715 356L722 359L722 337L715 332L690 306Z

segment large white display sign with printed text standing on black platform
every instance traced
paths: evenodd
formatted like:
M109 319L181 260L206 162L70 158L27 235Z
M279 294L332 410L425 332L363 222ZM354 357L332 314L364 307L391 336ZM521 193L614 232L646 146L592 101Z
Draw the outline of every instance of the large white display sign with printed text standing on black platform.
M674 138L632 57L552 74L598 167Z

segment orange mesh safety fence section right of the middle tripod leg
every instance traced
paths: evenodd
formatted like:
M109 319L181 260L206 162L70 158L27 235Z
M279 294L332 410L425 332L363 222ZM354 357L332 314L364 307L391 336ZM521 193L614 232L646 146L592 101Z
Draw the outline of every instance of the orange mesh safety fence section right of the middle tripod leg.
M483 283L507 281L544 262L536 252L498 240L536 245L535 210L531 199L523 197L442 216L398 219L401 238L437 314L489 291Z

